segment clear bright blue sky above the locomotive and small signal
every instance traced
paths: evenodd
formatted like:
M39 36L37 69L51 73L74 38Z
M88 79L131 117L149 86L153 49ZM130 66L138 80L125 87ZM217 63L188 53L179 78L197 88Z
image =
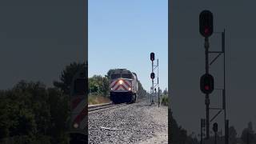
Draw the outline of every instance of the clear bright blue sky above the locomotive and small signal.
M126 68L149 91L154 52L160 88L168 88L167 0L89 0L88 8L89 77Z

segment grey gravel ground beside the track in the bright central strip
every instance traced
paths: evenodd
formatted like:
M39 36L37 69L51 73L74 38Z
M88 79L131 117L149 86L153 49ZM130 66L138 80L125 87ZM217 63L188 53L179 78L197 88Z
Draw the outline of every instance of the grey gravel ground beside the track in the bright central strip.
M168 143L167 106L137 102L88 116L89 143Z

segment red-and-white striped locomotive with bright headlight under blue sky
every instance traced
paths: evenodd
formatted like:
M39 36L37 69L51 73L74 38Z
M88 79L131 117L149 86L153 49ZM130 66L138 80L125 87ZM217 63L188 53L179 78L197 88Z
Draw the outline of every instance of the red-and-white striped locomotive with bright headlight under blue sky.
M138 77L126 69L114 69L110 74L110 100L114 103L136 102Z

